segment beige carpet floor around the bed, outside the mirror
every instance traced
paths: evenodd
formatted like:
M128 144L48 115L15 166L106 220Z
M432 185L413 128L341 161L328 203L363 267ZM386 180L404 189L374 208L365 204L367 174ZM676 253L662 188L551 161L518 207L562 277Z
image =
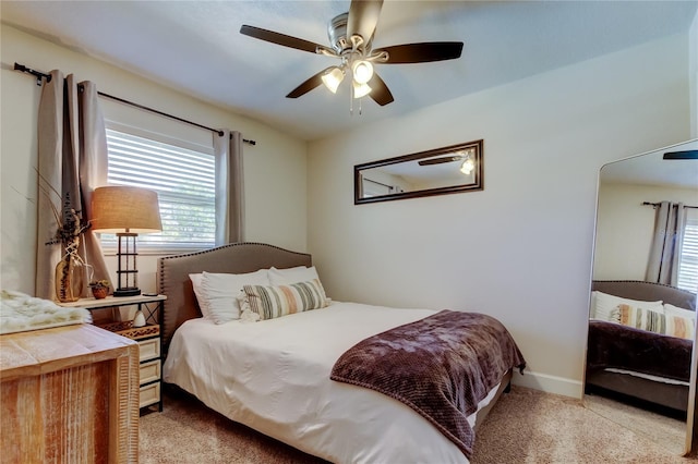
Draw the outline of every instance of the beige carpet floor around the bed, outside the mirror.
M324 463L233 423L186 394L166 391L163 413L141 417L141 463ZM579 400L516 386L478 431L471 459L472 464L690 462L586 408Z

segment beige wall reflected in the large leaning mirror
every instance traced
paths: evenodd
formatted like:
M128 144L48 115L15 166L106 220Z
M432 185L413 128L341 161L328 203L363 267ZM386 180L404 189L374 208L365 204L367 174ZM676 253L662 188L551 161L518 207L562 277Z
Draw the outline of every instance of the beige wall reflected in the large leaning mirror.
M663 200L698 205L698 190L618 183L600 186L594 279L645 280L655 215L642 203ZM696 212L689 211L691 217Z

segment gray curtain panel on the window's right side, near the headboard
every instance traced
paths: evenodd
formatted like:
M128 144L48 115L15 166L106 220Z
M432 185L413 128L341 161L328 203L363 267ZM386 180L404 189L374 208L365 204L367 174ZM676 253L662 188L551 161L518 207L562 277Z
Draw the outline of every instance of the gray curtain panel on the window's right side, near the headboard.
M216 157L216 245L242 242L244 184L242 134L222 131L214 136Z

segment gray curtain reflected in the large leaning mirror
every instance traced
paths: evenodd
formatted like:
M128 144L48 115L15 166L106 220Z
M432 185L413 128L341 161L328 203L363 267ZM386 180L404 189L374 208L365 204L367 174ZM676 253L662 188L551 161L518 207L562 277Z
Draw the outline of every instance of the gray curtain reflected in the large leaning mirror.
M682 203L661 202L657 206L654 235L645 279L676 286L684 241L686 208Z

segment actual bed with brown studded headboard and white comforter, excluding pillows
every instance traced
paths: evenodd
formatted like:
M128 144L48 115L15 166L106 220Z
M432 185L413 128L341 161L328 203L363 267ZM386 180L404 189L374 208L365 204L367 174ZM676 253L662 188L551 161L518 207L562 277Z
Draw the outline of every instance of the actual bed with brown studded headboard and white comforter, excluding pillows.
M240 319L215 323L212 318L202 317L190 274L249 274L267 269L290 272L312 268L311 256L267 244L238 243L164 257L158 265L158 288L168 296L161 323L166 382L195 395L232 420L330 462L468 462L472 442L464 444L460 436L449 437L453 430L444 428L441 418L434 420L434 414L424 414L424 407L408 405L405 395L390 396L381 389L364 388L361 386L364 378L353 383L351 378L344 378L365 367L361 366L366 359L365 352L360 353L359 367L341 362L372 341L399 343L399 340L386 342L386 337L400 330L422 330L428 321L436 321L432 325L437 326L450 316L468 320L485 317L481 331L489 332L491 321L500 323L496 319L476 313L330 302L322 309L260 322L245 321L248 307ZM457 337L460 334L454 334ZM510 340L508 332L507 337ZM479 358L485 359L490 367L482 378L496 378L482 398L478 396L472 411L464 406L468 411L467 425L459 427L470 429L469 434L477 430L508 388L513 368L525 367L514 341L508 343L513 346L503 351L510 352L510 356L503 362L494 361L498 359L493 354L498 347L474 349L477 344L472 344L461 350L476 351ZM421 361L400 364L421 365ZM395 366L385 371L369 370L390 380L398 378L393 369ZM450 387L462 389L457 383ZM429 391L422 383L416 384L419 388L411 388L409 394ZM468 389L476 390L472 382ZM431 403L438 395L423 396ZM409 396L409 400L418 403L424 399ZM438 411L442 410L440 406Z

